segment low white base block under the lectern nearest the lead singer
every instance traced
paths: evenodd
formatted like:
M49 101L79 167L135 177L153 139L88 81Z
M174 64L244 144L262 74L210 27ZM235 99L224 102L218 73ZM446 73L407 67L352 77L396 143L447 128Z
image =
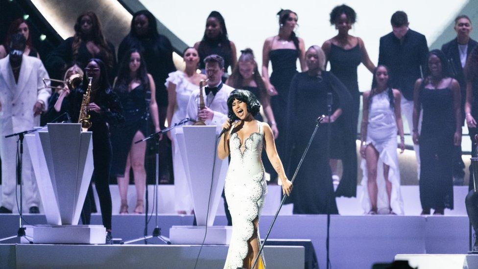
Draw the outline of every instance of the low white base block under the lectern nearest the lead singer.
M169 238L174 245L201 245L206 226L172 226ZM204 245L229 245L231 241L231 226L208 226Z

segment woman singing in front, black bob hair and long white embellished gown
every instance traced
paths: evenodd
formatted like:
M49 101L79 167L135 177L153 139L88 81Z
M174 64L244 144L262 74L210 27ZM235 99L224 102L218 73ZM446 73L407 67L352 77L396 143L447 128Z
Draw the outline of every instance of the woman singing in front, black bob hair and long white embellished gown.
M259 254L259 215L267 193L264 167L261 161L263 147L267 157L282 181L283 194L290 194L292 183L287 179L274 144L269 124L254 116L261 105L249 91L234 90L227 100L229 108L225 132L217 146L219 158L231 156L224 191L232 216L233 232L224 269L251 268ZM265 268L264 256L254 269Z

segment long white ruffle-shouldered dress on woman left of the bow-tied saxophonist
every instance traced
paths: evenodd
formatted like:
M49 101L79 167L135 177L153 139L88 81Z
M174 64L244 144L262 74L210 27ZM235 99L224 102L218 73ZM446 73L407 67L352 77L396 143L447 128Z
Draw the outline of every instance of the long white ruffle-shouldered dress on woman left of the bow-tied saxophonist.
M171 124L177 123L184 118L188 117L186 108L188 107L189 98L194 90L197 90L199 86L194 85L186 79L185 73L178 70L169 73L166 79L165 86L169 83L176 85L176 104L174 106L174 113L172 115ZM192 210L192 198L191 192L188 186L188 180L186 179L186 172L184 171L183 160L179 147L174 140L176 132L179 128L174 128L172 132L172 167L174 172L174 196L180 197L176 199L175 208L176 211L186 211L190 213Z

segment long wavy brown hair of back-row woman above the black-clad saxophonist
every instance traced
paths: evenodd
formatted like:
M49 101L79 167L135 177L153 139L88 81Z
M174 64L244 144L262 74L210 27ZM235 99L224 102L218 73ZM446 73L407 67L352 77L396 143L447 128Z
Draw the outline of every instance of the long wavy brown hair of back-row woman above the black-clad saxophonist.
M91 30L91 36L92 36L92 41L96 44L96 46L99 46L102 52L105 53L105 61L106 65L108 67L113 67L113 52L110 51L108 48L108 44L106 43L106 39L103 36L103 32L101 31L101 24L98 20L98 17L93 11L88 11L76 18L76 23L74 25L74 30L75 34L73 36L73 43L72 43L72 52L73 52L73 60L76 61L76 58L78 57L78 50L80 48L80 44L83 41L83 33L81 32L81 19L83 17L88 16L91 18L91 21L93 23L92 25L92 30Z

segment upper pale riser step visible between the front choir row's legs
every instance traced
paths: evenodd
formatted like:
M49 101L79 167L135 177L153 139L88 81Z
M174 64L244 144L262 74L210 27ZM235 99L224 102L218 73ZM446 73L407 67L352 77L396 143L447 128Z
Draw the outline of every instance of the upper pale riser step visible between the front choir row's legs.
M262 210L263 215L274 215L279 207L282 188L278 185L268 185L268 193L265 198L265 204ZM95 190L95 188L93 188ZM20 188L18 188L20 190ZM119 205L121 199L119 198L119 190L117 185L110 185L111 190L111 199L113 202L113 214L119 214ZM150 211L152 210L153 205L153 186L148 186L149 190L149 205ZM401 187L402 196L404 200L404 209L406 216L418 216L422 211L420 204L420 192L418 186L402 186ZM357 197L345 198L338 197L336 198L338 212L341 215L352 215L352 216L361 216L363 215L363 210L360 207L359 197L362 194L362 187L357 186ZM454 210L445 210L445 215L451 216L463 216L466 215L465 209L465 196L468 194L467 186L454 186ZM1 186L0 186L0 197L1 197ZM20 196L19 196L20 197ZM174 185L160 185L159 186L159 213L162 214L176 214L176 209L174 208L174 202L176 197L174 197ZM95 199L96 207L99 210L99 200L96 195L95 190ZM134 185L130 185L128 189L128 205L130 213L134 210L136 206L136 191ZM217 207L217 215L224 215L224 207L222 197L219 201L219 206ZM14 212L18 212L14 208ZM28 208L24 208L24 212L28 212ZM43 209L41 208L41 212ZM280 215L292 215L292 205L285 205Z

